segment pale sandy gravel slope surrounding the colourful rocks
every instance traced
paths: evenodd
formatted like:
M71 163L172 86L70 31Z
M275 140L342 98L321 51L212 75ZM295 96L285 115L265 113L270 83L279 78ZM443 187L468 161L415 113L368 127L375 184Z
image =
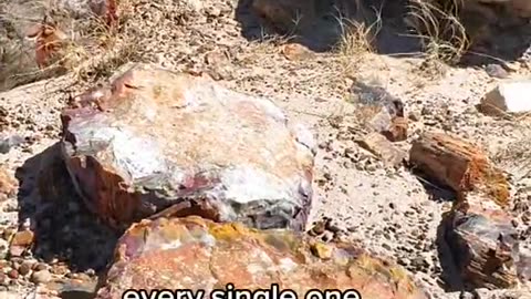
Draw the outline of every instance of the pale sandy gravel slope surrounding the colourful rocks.
M441 214L455 195L405 167L385 167L355 143L364 134L364 124L348 101L354 80L376 82L404 101L412 122L407 141L397 143L400 148L407 151L426 130L451 132L483 147L510 175L514 221L522 231L530 231L531 174L525 163L531 158L531 121L493 118L477 111L475 105L499 81L483 69L447 66L430 78L423 71L423 59L368 52L344 55L308 50L308 55L291 60L285 39L264 35L249 41L242 35L237 19L246 11L236 0L129 2L133 16L127 34L140 42L138 60L206 72L230 89L272 99L291 118L313 127L320 146L311 223L330 219L330 229L321 236L324 240L334 236L358 240L404 265L433 298L461 298L449 286L460 282L452 281L451 269L442 270L447 261L439 254L445 248L436 241ZM254 25L260 31L253 21L246 24L247 30ZM510 75L525 78L529 71L522 66ZM0 225L6 231L24 226L41 230L42 238L24 259L44 261L43 267L58 277L83 277L88 282L81 288L86 291L111 258L116 236L84 212L73 192L64 202L40 202L35 171L42 151L59 140L60 110L69 96L91 84L95 83L66 75L0 93L0 137L23 138L0 154L0 165L20 184L18 194L1 203ZM527 246L529 235L522 233ZM22 293L33 288L31 277L9 276L13 269L20 271L22 260L2 262L6 275L0 275L0 290Z

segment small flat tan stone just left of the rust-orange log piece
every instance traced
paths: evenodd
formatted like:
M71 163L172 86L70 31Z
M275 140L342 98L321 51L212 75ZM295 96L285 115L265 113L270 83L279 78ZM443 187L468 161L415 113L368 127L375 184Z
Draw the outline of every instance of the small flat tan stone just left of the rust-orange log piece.
M393 145L384 135L373 132L357 142L360 146L375 154L387 166L398 166L407 157L407 154Z

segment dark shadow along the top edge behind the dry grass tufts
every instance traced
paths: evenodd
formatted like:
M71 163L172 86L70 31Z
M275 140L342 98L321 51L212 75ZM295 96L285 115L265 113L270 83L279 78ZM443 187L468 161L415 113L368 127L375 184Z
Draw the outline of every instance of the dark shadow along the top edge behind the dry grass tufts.
M253 9L253 2L260 9ZM378 54L423 55L425 51L420 38L406 25L408 1L377 0L362 8L348 4L351 2L357 1L239 0L236 19L241 25L241 34L249 41L287 37L315 52L331 51L342 42L345 27L341 23L357 22L365 27L374 24L377 34L373 38L373 43ZM487 18L481 11L464 12L461 22L467 27L467 32L472 35L485 34L487 39L478 41L457 66L503 64L518 60L528 50L531 44L531 24L503 14L501 8L494 8L494 11L498 11L498 20L488 27L485 24ZM378 14L382 22L376 25Z

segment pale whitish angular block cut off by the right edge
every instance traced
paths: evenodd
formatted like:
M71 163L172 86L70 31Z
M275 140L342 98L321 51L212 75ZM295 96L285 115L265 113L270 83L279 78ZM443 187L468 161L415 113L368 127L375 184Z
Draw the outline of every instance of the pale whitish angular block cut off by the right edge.
M529 91L530 80L503 81L481 99L479 107L482 113L491 115L525 113L531 111Z

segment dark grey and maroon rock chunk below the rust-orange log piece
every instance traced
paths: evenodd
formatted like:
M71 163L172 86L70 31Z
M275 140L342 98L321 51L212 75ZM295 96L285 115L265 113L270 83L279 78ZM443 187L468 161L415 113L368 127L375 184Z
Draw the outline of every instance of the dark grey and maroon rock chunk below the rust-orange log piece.
M486 207L489 206L490 207ZM445 241L452 250L454 261L469 287L511 288L529 261L521 258L518 234L509 213L478 194L456 204L445 215ZM521 278L524 278L520 276Z

